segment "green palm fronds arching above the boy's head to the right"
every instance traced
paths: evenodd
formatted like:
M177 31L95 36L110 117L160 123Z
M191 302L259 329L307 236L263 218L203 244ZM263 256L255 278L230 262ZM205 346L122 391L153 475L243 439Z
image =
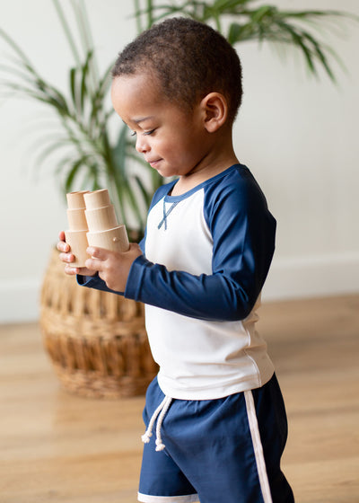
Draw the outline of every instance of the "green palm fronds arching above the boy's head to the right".
M212 0L178 1L167 4L152 4L142 9L136 2L136 17L158 22L172 15L184 15L200 22L213 24L226 39L235 45L240 42L258 40L276 42L298 49L311 75L318 75L324 69L334 82L332 61L340 62L337 54L327 43L320 40L319 34L327 27L346 20L358 21L353 14L340 11L288 11L276 5L258 4L258 0ZM224 23L225 21L225 23ZM229 26L228 26L229 25Z

